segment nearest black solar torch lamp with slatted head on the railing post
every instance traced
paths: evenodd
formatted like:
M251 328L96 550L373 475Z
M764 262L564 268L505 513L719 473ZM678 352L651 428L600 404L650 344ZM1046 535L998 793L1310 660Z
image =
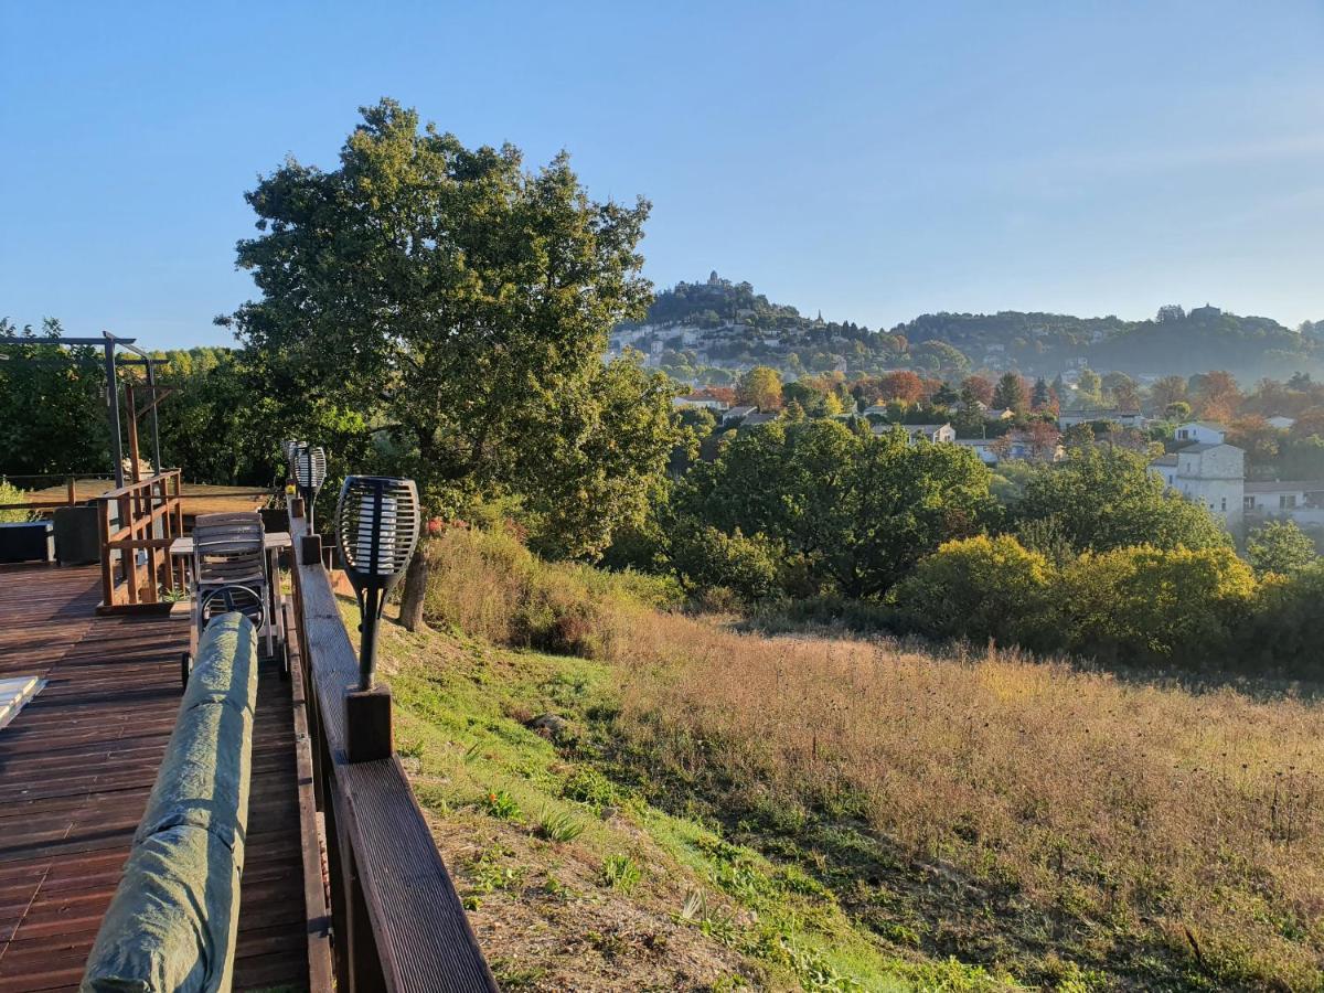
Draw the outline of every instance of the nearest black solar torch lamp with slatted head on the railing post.
M359 692L367 694L373 690L381 605L405 575L418 544L418 487L413 479L351 475L340 487L335 518L344 573L354 587L363 618Z

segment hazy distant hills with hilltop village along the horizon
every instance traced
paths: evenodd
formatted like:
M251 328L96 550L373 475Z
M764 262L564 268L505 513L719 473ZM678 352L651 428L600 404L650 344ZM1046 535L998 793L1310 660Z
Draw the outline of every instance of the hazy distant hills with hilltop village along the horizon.
M638 348L650 365L695 383L722 383L753 365L790 376L891 368L949 377L973 369L1055 376L1090 367L1157 377L1227 369L1254 380L1324 372L1324 320L1294 330L1206 303L1189 311L1170 305L1148 320L944 311L870 330L804 315L714 271L704 282L659 291L646 320L616 328L612 347Z

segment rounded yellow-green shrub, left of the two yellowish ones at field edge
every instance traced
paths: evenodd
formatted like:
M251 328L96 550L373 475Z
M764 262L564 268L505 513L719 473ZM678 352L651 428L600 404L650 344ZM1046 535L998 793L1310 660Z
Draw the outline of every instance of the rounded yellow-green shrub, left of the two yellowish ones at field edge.
M948 542L895 588L896 620L929 638L1051 643L1054 571L1010 535Z

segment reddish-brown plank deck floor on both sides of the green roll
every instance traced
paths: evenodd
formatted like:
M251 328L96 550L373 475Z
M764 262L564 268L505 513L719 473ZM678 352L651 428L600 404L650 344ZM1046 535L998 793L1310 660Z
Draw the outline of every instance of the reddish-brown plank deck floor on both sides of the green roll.
M179 707L185 621L97 617L99 572L0 565L0 993L77 988ZM234 988L303 989L308 915L291 688L263 665Z

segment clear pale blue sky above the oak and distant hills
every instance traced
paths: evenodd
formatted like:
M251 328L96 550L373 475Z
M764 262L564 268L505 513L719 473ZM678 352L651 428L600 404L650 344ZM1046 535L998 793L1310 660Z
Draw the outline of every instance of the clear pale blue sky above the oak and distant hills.
M242 200L414 106L653 201L711 269L870 327L931 310L1324 319L1324 3L0 0L0 315L225 343Z

